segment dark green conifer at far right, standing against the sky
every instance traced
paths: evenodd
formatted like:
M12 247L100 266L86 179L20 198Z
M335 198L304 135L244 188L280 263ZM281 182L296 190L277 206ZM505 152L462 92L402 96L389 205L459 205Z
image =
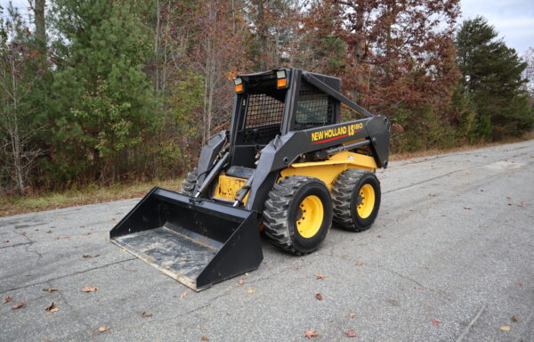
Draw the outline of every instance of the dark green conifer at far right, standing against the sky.
M473 138L498 140L528 132L534 118L522 87L526 63L482 17L464 21L456 44L461 87L476 107Z

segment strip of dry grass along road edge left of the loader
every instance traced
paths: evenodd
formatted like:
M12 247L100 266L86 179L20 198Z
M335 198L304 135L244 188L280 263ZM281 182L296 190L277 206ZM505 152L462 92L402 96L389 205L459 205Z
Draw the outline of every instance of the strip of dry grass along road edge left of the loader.
M0 198L0 217L36 211L77 207L85 204L109 202L118 199L134 199L144 196L154 186L177 191L182 179L113 185L109 187L88 186L65 192L47 192L30 196Z

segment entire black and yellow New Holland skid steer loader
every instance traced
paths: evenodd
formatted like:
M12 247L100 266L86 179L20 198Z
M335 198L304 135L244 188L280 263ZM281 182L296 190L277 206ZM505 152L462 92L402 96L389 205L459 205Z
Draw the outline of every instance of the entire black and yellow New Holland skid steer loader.
M182 193L152 189L110 232L134 256L191 289L256 269L260 232L311 253L332 222L359 232L375 221L391 126L340 93L341 80L301 69L234 79L230 131L200 152ZM342 113L362 117L343 122Z

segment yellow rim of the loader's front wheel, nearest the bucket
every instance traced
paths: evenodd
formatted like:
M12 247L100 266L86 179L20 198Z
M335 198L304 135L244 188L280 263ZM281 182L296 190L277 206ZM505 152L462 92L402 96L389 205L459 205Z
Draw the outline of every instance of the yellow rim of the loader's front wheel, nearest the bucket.
M320 230L324 208L320 198L311 195L303 199L296 213L296 230L303 238L311 238Z

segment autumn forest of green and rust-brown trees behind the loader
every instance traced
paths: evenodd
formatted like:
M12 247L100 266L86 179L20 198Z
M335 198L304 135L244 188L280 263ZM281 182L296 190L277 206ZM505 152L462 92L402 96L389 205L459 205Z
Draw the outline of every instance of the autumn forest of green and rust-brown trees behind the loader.
M227 129L232 78L341 77L392 151L534 128L520 57L458 0L31 0L0 7L0 196L178 179Z

